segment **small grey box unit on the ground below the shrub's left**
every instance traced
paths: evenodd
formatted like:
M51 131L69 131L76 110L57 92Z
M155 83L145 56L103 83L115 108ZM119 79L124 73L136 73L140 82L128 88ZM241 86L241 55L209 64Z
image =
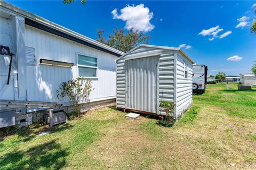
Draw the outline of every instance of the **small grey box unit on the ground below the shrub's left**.
M53 127L54 125L68 122L68 117L64 109L47 109L44 110L44 120Z

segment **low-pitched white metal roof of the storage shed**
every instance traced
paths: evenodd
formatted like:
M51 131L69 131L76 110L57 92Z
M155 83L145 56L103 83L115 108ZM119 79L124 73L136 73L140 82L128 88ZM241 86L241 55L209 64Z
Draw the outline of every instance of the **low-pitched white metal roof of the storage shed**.
M148 44L140 44L140 45L138 45L138 46L132 48L132 50L130 50L129 52L126 52L125 54L119 56L119 58L116 59L116 61L119 60L119 59L121 59L121 58L123 58L125 55L131 53L132 51L134 51L134 50L136 50L137 48L142 47L142 46L144 46L144 47L151 47L151 48L158 48L158 49L162 49L162 50L174 50L174 51L179 51L179 52L180 52L181 54L183 54L189 61L191 61L192 63L194 63L194 61L193 61L192 59L190 59L189 56L188 56L185 52L183 52L183 51L181 50L181 48L168 47L168 46L148 45Z

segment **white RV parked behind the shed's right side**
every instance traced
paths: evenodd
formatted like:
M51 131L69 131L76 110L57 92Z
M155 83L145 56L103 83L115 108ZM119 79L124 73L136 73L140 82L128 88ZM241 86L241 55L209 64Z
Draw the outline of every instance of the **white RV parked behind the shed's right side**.
M207 83L207 66L193 64L193 92L204 93Z

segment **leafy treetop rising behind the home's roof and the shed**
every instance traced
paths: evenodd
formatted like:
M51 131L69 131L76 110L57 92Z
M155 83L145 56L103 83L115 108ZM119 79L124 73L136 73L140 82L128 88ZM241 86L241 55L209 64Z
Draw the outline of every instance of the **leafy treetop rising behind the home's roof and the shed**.
M96 41L116 48L119 51L128 52L139 44L148 44L149 38L151 38L149 35L139 32L139 30L134 31L133 28L127 30L126 34L123 29L118 28L113 30L113 32L114 34L107 33L108 39L105 39L103 36L104 30L98 29L98 38L96 38Z

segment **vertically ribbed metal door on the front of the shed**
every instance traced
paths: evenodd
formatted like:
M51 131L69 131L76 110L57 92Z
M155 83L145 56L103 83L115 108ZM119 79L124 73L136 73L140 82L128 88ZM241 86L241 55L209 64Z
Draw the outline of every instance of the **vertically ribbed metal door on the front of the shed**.
M127 108L157 113L159 56L127 60Z

